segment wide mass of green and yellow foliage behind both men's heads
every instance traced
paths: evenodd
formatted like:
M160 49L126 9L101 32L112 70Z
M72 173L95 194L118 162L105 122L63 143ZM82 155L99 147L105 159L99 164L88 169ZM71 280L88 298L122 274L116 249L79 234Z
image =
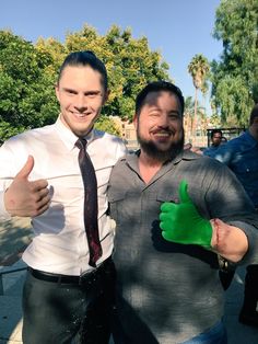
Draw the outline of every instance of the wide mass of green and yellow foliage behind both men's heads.
M106 35L98 35L94 27L85 24L81 31L69 32L64 43L39 37L36 44L10 31L0 31L2 128L9 123L24 130L56 121L59 112L55 96L57 73L66 55L74 50L93 50L107 67L110 95L103 108L106 116L132 118L134 99L142 85L150 80L169 79L168 65L161 54L149 48L146 37L133 38L130 28L121 31L113 25ZM105 127L104 123L101 125ZM0 126L2 138L11 133L1 130Z

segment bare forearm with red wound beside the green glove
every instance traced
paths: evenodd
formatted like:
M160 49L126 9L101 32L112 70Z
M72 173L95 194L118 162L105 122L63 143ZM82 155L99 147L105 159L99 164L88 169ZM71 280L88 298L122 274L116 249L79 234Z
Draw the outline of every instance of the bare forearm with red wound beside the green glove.
M212 219L210 222L212 226L212 250L231 262L239 262L248 250L245 232L220 219Z

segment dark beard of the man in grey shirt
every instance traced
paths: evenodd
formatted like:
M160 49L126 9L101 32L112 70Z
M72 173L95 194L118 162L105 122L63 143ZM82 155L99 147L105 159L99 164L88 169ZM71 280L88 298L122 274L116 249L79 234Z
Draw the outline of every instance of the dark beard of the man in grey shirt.
M154 141L144 139L141 136L139 128L137 130L137 139L141 149L150 158L161 162L165 162L175 159L184 150L185 131L184 129L181 129L181 135L179 139L175 142L171 142L169 147L165 150L159 148L159 146Z

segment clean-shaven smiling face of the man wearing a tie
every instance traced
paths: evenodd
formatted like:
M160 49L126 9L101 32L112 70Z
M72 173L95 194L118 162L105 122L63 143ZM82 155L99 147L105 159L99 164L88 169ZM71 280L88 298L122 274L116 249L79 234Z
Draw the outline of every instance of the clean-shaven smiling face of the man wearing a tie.
M102 76L90 66L67 66L56 87L61 122L77 136L91 131L107 100Z

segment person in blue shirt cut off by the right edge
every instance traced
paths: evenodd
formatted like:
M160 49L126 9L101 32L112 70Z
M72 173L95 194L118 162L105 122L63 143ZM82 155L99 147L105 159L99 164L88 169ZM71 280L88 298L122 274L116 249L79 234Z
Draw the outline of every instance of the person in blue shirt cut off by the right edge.
M248 130L221 146L214 158L235 173L258 211L258 104L250 112ZM254 264L246 270L239 322L258 328L257 302L258 265Z

